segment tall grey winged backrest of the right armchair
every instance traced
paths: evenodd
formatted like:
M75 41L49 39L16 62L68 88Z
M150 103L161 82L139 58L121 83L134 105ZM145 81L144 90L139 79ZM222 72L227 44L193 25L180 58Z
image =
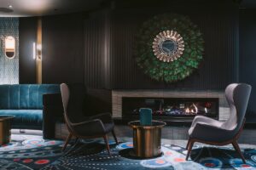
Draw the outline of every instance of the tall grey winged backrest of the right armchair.
M225 89L225 96L230 105L230 118L222 127L232 130L234 135L242 126L251 89L252 87L245 83L233 83Z

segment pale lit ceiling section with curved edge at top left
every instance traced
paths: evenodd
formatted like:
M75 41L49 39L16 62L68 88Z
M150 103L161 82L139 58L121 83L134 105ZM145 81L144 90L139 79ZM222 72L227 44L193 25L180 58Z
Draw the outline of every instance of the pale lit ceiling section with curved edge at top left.
M0 0L0 17L67 14L97 8L103 0ZM9 7L11 5L12 7Z

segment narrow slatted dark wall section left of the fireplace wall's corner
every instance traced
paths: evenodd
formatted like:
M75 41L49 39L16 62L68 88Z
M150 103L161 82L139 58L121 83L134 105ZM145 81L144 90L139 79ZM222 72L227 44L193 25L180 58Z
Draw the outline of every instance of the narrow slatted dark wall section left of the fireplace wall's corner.
M108 13L99 11L84 20L84 84L108 86Z

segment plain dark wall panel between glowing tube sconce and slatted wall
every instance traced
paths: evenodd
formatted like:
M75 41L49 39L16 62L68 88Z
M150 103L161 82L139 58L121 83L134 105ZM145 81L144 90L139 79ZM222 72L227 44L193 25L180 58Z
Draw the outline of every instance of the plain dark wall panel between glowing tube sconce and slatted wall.
M43 17L43 83L84 82L84 14Z

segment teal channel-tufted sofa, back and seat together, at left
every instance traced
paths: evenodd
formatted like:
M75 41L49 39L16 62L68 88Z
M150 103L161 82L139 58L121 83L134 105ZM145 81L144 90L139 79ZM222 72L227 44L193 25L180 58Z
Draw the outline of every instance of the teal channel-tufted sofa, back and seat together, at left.
M15 116L13 128L42 129L44 94L60 94L60 85L0 85L0 115Z

